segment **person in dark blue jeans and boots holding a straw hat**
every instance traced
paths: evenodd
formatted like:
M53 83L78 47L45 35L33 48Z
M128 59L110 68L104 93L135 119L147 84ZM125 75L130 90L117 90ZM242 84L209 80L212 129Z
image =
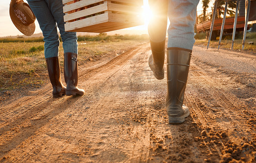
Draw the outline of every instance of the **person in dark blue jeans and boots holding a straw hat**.
M24 34L32 35L34 33L34 23L28 25L24 23L31 15L38 19L42 30L43 41L45 41L45 60L49 79L53 86L53 97L84 95L84 90L79 89L78 85L78 43L75 32L65 32L64 13L62 0L12 0L10 3L10 16L15 26ZM30 8L29 8L30 7ZM30 13L32 10L33 13ZM15 17L15 18L14 18ZM18 17L18 18L16 18ZM18 22L18 25L16 25ZM31 26L31 27L30 27ZM64 77L66 87L62 84L60 78L59 65L59 35L57 27L60 30L60 36L64 48ZM24 30L26 28L26 30Z

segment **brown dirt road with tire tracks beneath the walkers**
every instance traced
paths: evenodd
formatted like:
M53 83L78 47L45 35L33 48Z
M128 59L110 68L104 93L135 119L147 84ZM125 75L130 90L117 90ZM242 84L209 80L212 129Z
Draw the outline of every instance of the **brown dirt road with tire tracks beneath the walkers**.
M194 47L183 124L167 124L166 78L149 44L79 69L82 97L51 85L3 102L0 162L255 162L256 56Z

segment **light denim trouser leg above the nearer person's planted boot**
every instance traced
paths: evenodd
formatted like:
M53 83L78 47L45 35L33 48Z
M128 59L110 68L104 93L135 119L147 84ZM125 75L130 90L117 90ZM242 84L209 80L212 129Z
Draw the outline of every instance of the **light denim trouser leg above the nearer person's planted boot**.
M178 47L192 50L195 43L194 26L198 2L199 0L169 1L168 48Z

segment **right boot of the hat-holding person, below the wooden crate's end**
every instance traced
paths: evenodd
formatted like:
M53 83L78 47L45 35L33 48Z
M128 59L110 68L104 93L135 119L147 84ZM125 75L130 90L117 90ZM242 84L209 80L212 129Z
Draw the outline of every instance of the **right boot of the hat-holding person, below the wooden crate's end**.
M67 96L82 96L84 90L77 87L78 84L78 64L76 53L64 53L64 76L67 84Z

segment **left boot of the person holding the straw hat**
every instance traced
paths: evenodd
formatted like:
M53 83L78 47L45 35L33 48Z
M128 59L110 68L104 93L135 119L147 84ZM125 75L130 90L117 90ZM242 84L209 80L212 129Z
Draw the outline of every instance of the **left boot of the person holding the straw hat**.
M59 57L46 58L48 74L53 87L53 97L65 95L66 87L61 83Z

